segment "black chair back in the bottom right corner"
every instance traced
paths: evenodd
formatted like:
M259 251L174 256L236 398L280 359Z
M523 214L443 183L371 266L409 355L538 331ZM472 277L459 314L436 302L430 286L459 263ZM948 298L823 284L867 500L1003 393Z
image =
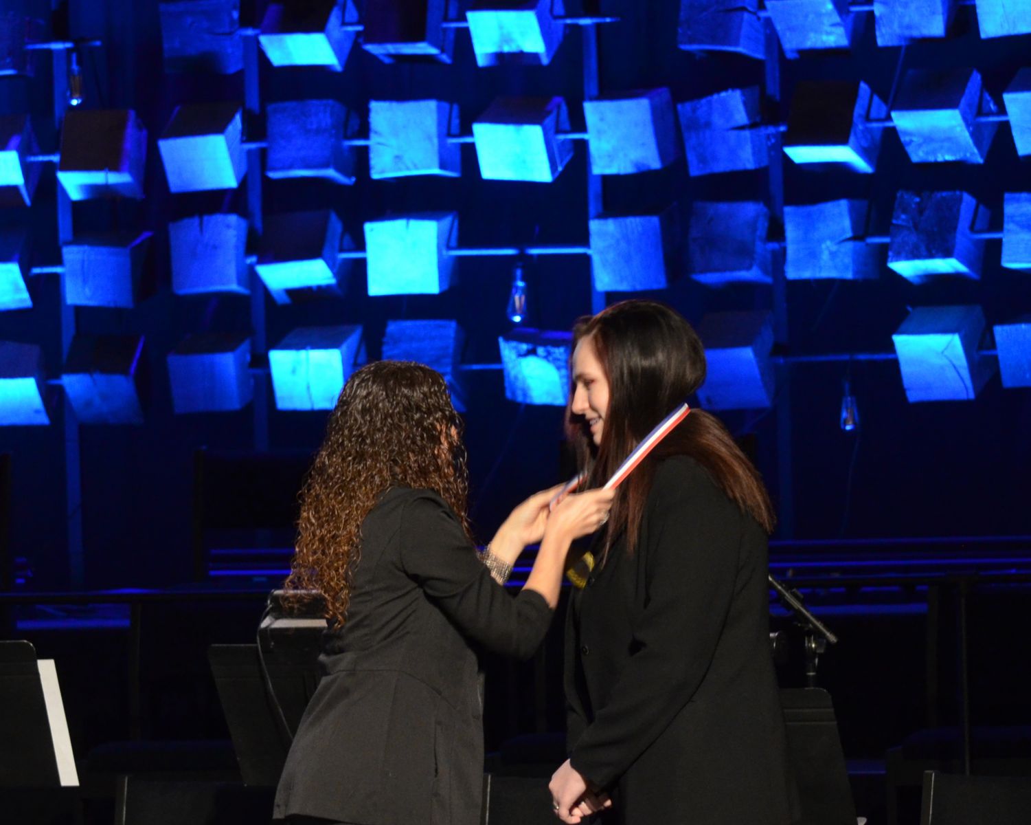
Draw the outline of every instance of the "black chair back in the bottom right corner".
M921 825L1027 825L1031 776L963 776L924 772Z

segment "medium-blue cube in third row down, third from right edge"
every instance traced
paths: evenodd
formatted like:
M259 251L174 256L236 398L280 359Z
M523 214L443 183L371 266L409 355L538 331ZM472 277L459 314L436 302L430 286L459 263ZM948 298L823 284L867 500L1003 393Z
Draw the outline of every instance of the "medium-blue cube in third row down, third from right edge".
M784 208L789 281L877 277L877 251L863 240L865 200L828 200Z

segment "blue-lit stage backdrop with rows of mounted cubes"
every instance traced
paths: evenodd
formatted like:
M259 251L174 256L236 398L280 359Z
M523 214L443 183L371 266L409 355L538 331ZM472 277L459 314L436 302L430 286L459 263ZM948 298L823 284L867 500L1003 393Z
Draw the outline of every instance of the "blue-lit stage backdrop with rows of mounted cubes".
M380 357L446 376L489 538L569 470L572 323L642 295L777 538L1031 535L1029 279L1026 2L0 11L20 586L207 575L195 451L310 454Z

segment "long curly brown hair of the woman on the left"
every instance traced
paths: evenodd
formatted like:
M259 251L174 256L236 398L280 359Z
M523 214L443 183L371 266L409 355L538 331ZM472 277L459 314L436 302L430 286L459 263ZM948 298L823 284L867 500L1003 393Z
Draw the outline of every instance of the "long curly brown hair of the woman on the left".
M413 361L376 361L348 379L301 489L297 547L285 589L325 598L331 627L346 621L362 521L395 486L432 489L468 534L462 419L443 377Z

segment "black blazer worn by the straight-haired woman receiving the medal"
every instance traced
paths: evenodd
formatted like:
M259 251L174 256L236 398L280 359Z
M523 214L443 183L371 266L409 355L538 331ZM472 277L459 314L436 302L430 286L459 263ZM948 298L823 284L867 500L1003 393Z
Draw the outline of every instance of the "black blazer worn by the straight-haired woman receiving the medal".
M616 541L566 626L571 764L612 792L606 821L792 820L766 575L759 525L661 462L634 556Z

